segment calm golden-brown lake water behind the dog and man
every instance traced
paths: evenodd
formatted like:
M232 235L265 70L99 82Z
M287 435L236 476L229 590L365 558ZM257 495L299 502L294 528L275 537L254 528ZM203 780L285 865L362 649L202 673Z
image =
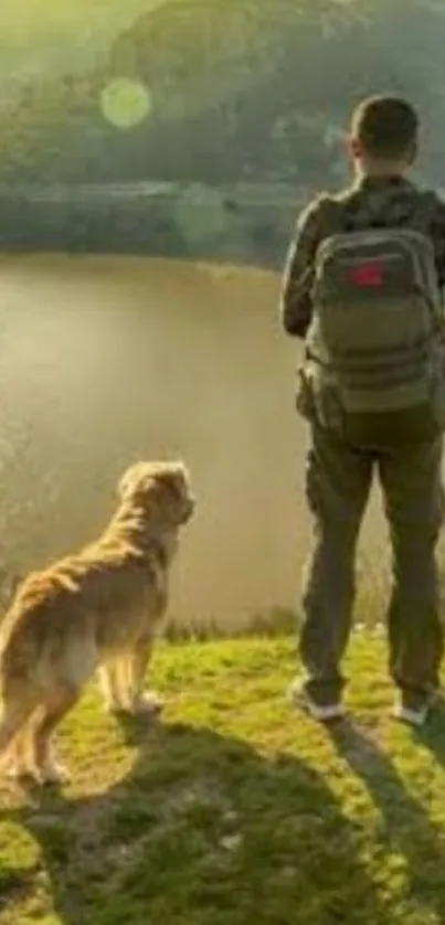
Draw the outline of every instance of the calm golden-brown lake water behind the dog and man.
M230 628L295 604L308 540L305 429L278 285L269 273L146 258L1 261L8 573L93 538L129 462L178 456L200 503L174 616ZM371 512L367 562L380 549L375 523Z

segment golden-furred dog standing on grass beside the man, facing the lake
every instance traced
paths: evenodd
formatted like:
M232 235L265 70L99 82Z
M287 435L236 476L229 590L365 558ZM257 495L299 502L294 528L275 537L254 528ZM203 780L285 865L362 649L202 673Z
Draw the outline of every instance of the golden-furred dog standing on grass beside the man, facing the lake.
M106 703L156 712L142 695L178 533L194 499L180 462L137 462L102 538L28 576L0 625L0 756L14 775L60 778L50 738L100 668Z

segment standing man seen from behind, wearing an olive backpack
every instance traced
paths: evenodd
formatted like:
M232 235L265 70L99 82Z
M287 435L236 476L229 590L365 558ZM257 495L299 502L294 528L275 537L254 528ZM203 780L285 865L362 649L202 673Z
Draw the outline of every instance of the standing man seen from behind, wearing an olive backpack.
M284 273L283 325L306 342L297 407L309 422L315 525L300 636L307 677L293 697L320 721L343 714L356 545L375 470L393 553L394 713L421 725L437 697L445 204L405 176L417 143L406 102L361 103L349 139L354 182L303 212Z

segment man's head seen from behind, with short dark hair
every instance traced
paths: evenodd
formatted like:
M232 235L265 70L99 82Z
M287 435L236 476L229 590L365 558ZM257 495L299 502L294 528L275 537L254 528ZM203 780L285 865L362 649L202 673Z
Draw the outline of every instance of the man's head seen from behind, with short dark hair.
M372 96L352 114L349 146L360 173L404 173L416 158L417 143L418 117L404 99Z

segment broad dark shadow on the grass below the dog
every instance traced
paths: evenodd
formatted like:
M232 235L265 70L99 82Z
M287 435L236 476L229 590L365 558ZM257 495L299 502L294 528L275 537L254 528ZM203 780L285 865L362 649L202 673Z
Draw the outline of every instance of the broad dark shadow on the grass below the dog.
M63 925L393 923L360 858L363 832L324 778L209 730L151 727L107 793L34 794L0 820L23 826L41 852L41 869L2 884L11 925L42 872Z

